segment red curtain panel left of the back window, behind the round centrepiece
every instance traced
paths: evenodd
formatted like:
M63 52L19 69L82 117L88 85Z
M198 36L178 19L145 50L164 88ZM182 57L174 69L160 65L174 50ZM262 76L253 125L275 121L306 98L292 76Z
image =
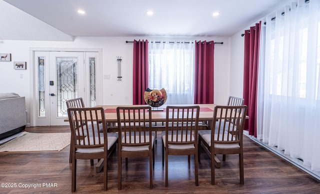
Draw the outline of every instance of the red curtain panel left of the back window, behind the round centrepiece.
M133 104L145 104L143 94L148 88L148 40L133 41Z

